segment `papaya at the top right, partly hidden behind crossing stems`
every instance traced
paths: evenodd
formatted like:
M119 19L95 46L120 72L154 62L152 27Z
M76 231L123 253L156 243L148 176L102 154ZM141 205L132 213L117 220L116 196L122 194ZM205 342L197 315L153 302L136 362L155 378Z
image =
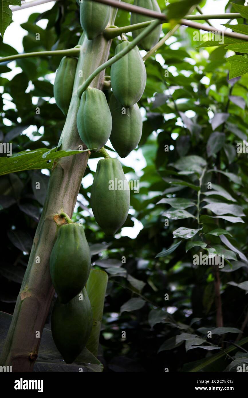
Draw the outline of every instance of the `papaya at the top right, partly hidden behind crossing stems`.
M148 10L160 12L157 0L134 0L134 6L148 8ZM134 23L141 23L151 20L154 20L154 18L131 12L131 25ZM135 37L137 37L142 30L143 29L134 30L132 32L133 39L135 39ZM144 37L144 39L139 43L139 46L143 48L143 50L149 51L156 43L158 43L161 31L162 24L158 25L151 33L149 33L149 35Z

